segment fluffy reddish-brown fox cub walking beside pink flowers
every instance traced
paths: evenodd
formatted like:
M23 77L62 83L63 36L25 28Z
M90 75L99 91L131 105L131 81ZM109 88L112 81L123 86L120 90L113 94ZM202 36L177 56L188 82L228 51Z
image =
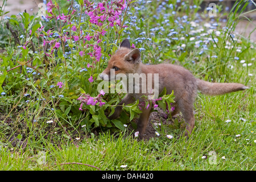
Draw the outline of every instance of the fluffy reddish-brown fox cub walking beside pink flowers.
M110 69L114 69L115 75L123 73L129 75L129 73L158 73L159 74L159 93L162 92L164 87L167 93L171 94L174 90L175 106L171 115L174 116L180 111L184 117L186 123L185 136L191 134L193 127L195 126L195 118L193 115L193 102L196 97L197 90L201 93L210 96L221 95L230 92L236 92L238 90L249 89L247 86L237 83L211 83L195 78L191 72L187 69L174 64L157 64L157 65L145 65L141 63L141 52L138 48L131 49L128 39L123 40L119 49L109 60L108 67L100 74L102 80L110 79ZM153 78L154 82L154 78ZM154 86L154 84L152 84ZM149 92L143 94L140 90L139 93L127 93L121 102L115 107L114 114L110 115L109 119L118 118L122 111L122 105L131 104L137 99L141 99L141 96L150 95ZM152 106L142 108L142 113L137 122L137 130L139 131L139 139L143 138L143 134L146 130L148 118L150 116L150 110Z

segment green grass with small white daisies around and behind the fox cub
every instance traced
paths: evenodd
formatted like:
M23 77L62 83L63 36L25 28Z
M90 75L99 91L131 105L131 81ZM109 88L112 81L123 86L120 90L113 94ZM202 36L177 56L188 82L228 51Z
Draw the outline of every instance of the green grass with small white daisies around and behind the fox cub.
M156 12L156 5L152 5L150 9ZM131 11L134 14L136 12L134 8ZM144 17L143 11L145 9L141 14L137 14L137 22L139 18ZM183 16L183 13L189 14L188 11L181 6L180 16ZM145 30L147 36L151 28L155 26L155 22L151 21L152 16L148 14L147 20L138 23L138 26L144 27L139 31ZM191 16L196 17L196 12ZM229 17L231 19L228 20L228 27L232 25L232 19L238 20L233 14ZM163 14L159 13L159 19L154 20L158 23L163 22ZM207 21L209 19L205 20ZM170 26L177 28L175 23L170 23ZM170 29L170 26L164 28ZM191 27L185 31L189 28ZM133 30L131 38L140 37L138 28L132 27L131 29ZM220 31L226 33L221 28ZM186 33L189 32L180 36ZM255 44L242 36L236 35L236 39L233 39L230 35L231 33L222 34L218 38L218 44L209 43L209 56L199 56L200 50L188 40L167 46L162 41L164 35L160 38L155 36L153 46L150 43L136 45L138 48L146 48L146 51L142 51L143 61L146 63L147 61L157 63L158 59L165 60L164 57L167 57L166 59L170 62L173 61L189 69L197 78L216 82L241 82L250 87L242 92L215 97L199 93L194 104L196 126L189 139L177 135L183 131L182 123L181 125L180 123L171 125L162 123L161 127L156 129L160 134L159 137L155 135L149 140L138 141L134 139L133 132L128 128L125 131L116 132L102 128L98 135L88 130L85 132L84 128L79 127L86 117L82 114L77 119L73 119L73 115L66 114L68 117L61 115L62 120L55 123L33 122L34 119L49 121L59 117L55 111L56 108L52 110L53 93L49 91L49 88L44 92L36 89L35 85L42 87L47 85L46 80L33 84L32 81L27 81L22 74L10 72L8 76L14 77L15 80L5 89L11 90L13 94L1 103L3 113L0 115L0 170L97 171L99 168L107 171L254 171L256 168L256 64L253 59L256 57ZM208 36L210 38L210 35ZM230 42L234 47L225 48L226 42ZM185 52L177 51L177 45L181 43L187 44ZM214 47L214 44L217 44L217 47ZM160 49L158 46L164 48ZM242 52L236 51L238 47L241 47ZM211 57L213 55L218 56L215 59ZM8 56L12 57L12 54ZM235 56L239 56L240 60L234 60ZM2 59L5 59L4 55ZM243 63L240 63L241 60L246 60L246 64L252 64L243 66ZM249 75L250 73L252 75ZM25 104L28 99L23 95L27 92L27 83L36 90L36 96L46 98L46 102L34 98L30 100L30 104ZM13 90L18 90L18 93ZM57 98L62 92L64 89L60 93L55 93L54 96ZM59 101L60 98L57 100ZM65 110L64 106L63 112L65 111L67 108ZM174 137L169 139L166 135Z

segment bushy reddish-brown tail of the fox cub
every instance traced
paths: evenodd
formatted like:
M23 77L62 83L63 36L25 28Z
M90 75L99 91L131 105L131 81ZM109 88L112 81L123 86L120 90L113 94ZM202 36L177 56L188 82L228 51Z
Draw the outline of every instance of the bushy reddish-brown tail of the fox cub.
M211 83L211 82L200 80L200 79L196 79L196 85L198 90L200 90L203 94L207 94L209 96L217 96L225 93L249 89L249 87L243 84Z

